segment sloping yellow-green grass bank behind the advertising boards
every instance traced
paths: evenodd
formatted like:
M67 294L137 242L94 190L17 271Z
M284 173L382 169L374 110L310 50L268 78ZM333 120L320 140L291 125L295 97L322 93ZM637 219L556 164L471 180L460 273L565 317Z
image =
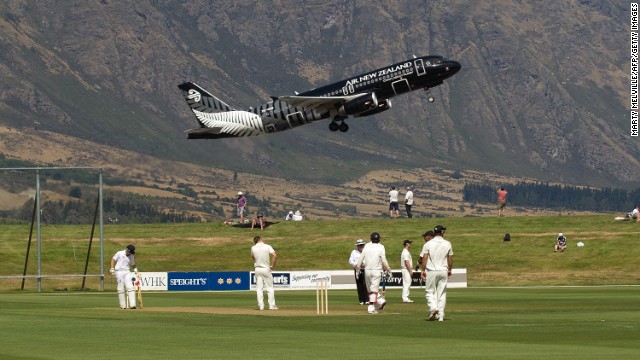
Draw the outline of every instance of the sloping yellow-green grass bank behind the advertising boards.
M252 238L261 235L278 252L279 270L348 269L358 238L378 231L393 268L399 268L402 240L411 239L417 258L421 234L442 224L452 241L456 268L466 268L470 287L640 284L640 224L613 220L614 215L465 217L443 219L357 219L279 222L265 231L199 224L105 225L104 261L129 243L136 245L141 271L250 270ZM84 270L90 226L42 225L42 274L80 274ZM569 239L564 253L554 253L558 232ZM504 242L505 233L511 235ZM28 225L0 225L0 275L20 275L25 262ZM581 241L584 247L577 247ZM36 243L28 274L35 275ZM97 233L89 273L99 273ZM112 284L107 278L106 287ZM80 279L45 279L43 289L77 289ZM89 278L96 289L98 280ZM19 288L19 280L0 279L0 290ZM27 289L35 280L26 281Z

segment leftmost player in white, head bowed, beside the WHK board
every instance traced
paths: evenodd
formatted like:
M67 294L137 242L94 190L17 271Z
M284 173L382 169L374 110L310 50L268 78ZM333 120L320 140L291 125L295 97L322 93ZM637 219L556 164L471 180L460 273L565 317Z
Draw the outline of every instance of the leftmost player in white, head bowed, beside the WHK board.
M135 246L128 245L126 249L118 251L113 255L113 258L111 258L109 274L115 276L118 282L118 302L120 302L121 309L136 308L136 291L133 284L138 278L138 268L136 267L134 258L135 253ZM129 271L132 266L133 273ZM125 291L127 292L127 296L125 296ZM128 304L127 299L129 300Z

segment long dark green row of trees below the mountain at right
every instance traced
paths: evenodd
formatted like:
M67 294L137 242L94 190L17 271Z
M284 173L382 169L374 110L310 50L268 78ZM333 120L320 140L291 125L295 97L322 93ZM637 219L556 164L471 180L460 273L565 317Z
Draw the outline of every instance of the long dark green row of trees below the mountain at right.
M465 184L464 201L494 203L498 187L485 184ZM505 187L509 195L507 203L545 209L566 209L594 212L629 212L640 204L640 188L623 190L614 188L594 189L572 185L518 182Z

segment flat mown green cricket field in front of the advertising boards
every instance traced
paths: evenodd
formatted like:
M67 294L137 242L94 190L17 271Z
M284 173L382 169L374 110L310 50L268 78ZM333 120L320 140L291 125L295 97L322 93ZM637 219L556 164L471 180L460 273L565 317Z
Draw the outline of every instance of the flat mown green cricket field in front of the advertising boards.
M0 358L113 359L632 359L640 352L640 287L450 289L446 321L428 322L422 289L377 316L354 290L145 294L117 309L113 292L5 293ZM291 309L300 311L291 315ZM234 313L241 310L240 313ZM302 313L304 312L304 313ZM348 315L345 315L348 313ZM373 346L373 347L372 347Z

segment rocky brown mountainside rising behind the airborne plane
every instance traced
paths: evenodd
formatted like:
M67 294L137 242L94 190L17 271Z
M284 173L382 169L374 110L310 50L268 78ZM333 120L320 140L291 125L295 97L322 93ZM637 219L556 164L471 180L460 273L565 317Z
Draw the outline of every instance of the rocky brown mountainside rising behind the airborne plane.
M438 166L635 187L628 19L628 3L595 0L6 1L0 124L10 131L0 149L20 157L24 134L42 144L61 134L87 152L108 146L303 183ZM183 81L248 108L412 54L463 68L431 91L434 103L403 95L390 111L350 120L348 133L328 122L247 139L183 133L195 126ZM38 151L43 163L84 161L82 150Z

